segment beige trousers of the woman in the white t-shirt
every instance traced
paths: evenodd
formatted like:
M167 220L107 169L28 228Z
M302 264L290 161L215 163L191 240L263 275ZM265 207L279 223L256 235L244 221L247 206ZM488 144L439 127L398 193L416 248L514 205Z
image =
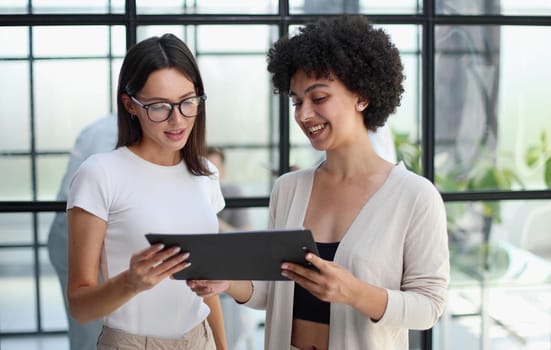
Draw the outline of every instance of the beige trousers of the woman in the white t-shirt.
M98 350L216 350L214 337L205 320L183 338L167 339L129 334L103 326Z

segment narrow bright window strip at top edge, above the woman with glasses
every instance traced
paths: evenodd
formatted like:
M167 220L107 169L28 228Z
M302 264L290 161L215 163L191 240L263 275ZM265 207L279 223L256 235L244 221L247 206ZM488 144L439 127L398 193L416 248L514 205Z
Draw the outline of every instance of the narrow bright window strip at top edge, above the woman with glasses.
M137 0L139 14L274 14L277 0Z

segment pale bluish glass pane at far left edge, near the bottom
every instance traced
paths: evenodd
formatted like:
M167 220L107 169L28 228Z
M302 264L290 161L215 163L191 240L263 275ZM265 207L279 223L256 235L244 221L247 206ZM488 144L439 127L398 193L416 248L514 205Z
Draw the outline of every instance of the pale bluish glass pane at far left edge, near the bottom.
M0 250L0 332L36 330L31 248Z

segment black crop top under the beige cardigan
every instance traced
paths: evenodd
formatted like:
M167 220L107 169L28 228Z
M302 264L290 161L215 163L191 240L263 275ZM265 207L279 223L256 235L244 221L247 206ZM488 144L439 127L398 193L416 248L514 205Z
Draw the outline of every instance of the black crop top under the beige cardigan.
M318 252L320 258L331 260L335 258L335 252L339 242L318 243ZM321 301L313 296L309 291L295 283L295 297L293 299L293 318L301 320L329 324L330 303Z

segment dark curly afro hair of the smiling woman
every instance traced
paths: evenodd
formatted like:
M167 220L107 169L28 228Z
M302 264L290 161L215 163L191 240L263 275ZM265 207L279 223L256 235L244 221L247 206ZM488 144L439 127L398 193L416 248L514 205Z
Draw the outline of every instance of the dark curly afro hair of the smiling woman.
M335 76L366 98L364 124L373 131L394 113L404 92L398 49L361 15L322 18L275 42L268 52L274 92L288 94L297 70L317 78Z

